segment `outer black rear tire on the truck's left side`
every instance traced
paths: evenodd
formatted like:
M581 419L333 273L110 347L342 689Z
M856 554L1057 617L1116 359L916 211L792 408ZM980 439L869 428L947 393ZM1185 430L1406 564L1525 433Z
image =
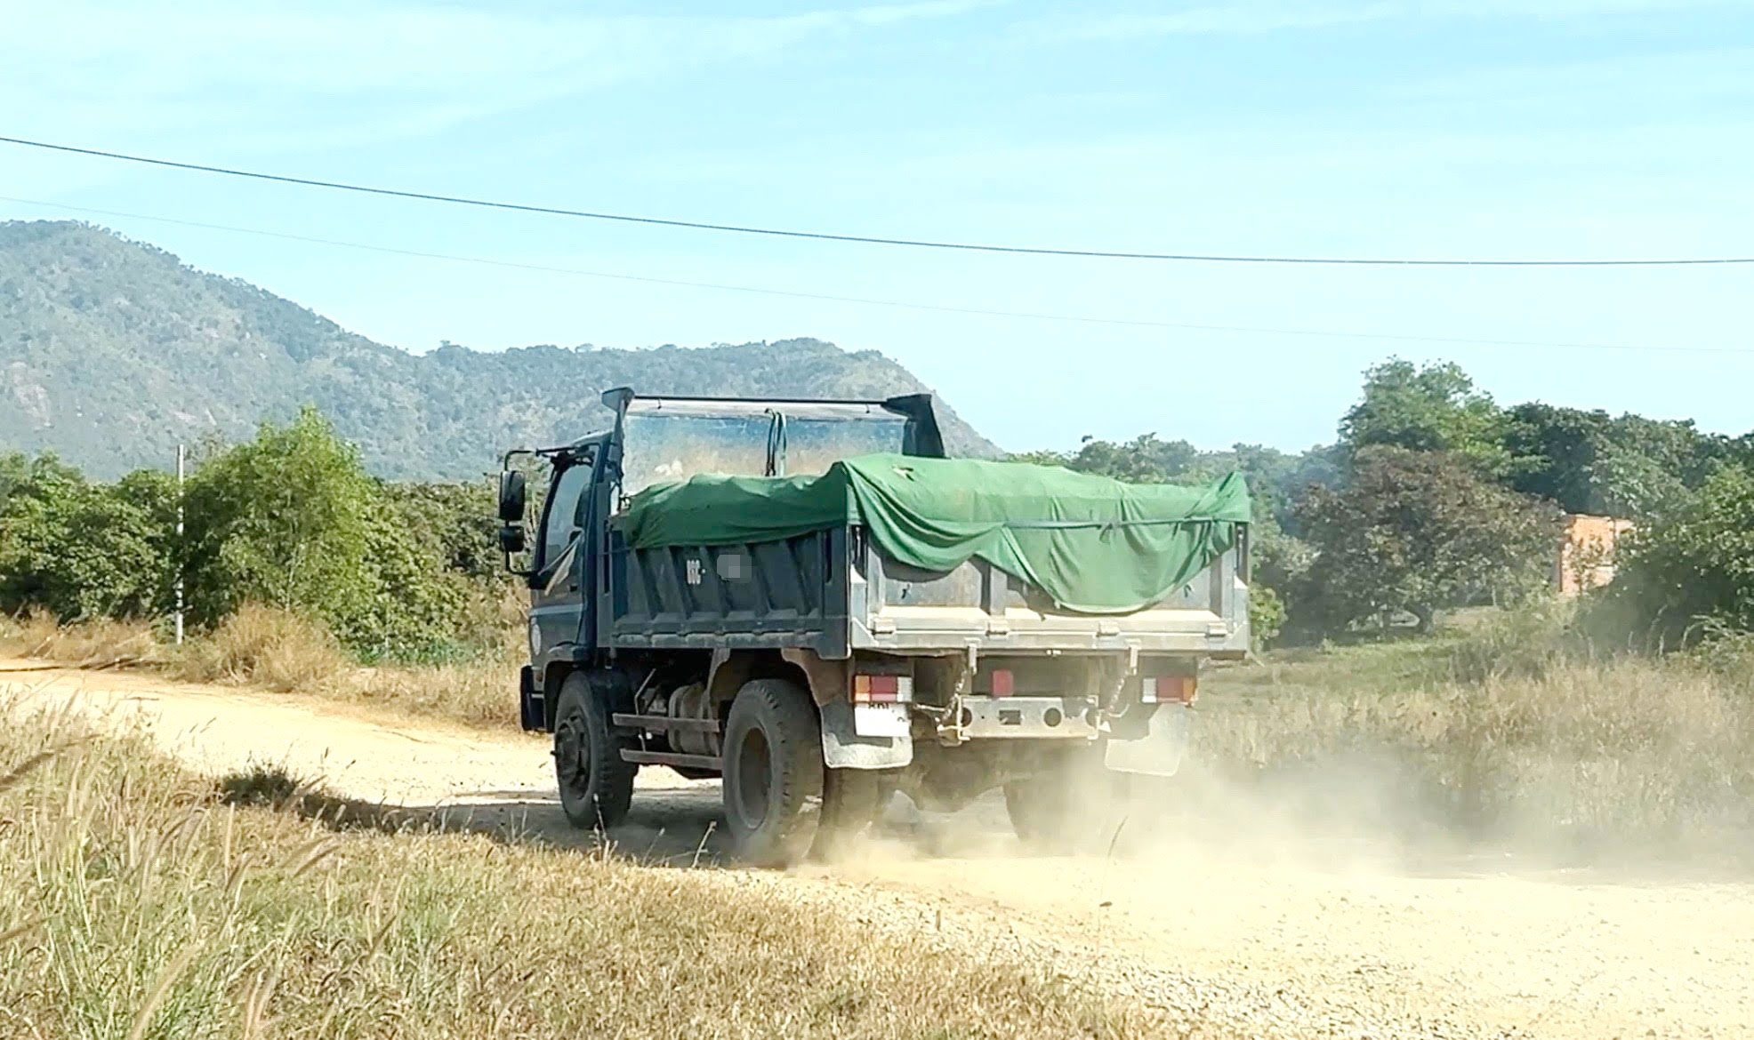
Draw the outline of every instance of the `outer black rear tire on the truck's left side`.
M810 695L784 679L737 691L724 728L724 823L754 866L803 859L823 810L823 735Z

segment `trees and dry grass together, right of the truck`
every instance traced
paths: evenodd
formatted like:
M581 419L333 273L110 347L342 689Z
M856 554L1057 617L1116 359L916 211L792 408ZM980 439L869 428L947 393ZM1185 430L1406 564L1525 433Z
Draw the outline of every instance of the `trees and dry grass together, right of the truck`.
M1249 475L1263 652L1203 680L1182 794L1317 833L1754 851L1754 435L1503 409L1407 361L1368 370L1337 431L1301 456L1151 435L1031 456ZM1559 512L1636 524L1570 603Z

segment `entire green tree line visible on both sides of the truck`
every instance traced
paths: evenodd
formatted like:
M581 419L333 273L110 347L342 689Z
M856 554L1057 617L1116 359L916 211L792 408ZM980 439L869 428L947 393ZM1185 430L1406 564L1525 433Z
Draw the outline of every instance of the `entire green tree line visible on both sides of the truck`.
M1337 440L1301 454L1145 433L1016 458L1133 482L1245 474L1263 640L1430 628L1442 610L1528 602L1552 579L1561 512L1638 524L1614 586L1593 596L1617 638L1754 630L1754 435L1505 409L1451 363L1370 368ZM196 626L263 602L363 658L442 656L491 642L482 619L509 588L493 512L486 481L374 479L314 409L203 445L181 496L158 470L98 482L54 456L0 454L0 610L161 619L181 577Z

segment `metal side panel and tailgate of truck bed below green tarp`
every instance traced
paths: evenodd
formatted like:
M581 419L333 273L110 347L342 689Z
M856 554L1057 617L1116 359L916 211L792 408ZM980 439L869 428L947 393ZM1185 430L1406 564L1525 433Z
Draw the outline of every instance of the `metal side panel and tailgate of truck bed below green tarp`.
M805 647L823 658L891 652L1142 651L1242 656L1249 647L1245 544L1168 600L1131 614L1054 610L1038 589L980 559L923 572L858 526L751 545L610 552L605 645L626 649Z

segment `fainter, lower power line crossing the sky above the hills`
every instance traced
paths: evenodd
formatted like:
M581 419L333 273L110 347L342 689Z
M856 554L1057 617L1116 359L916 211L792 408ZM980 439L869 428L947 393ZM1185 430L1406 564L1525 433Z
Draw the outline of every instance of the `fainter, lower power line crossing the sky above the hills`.
M240 228L235 224L212 224L203 221L184 221L177 217L160 217L137 212L123 212L112 209L93 209L86 205L67 205L61 202L44 202L39 198L12 198L0 195L0 202L12 202L19 205L40 205L46 209L61 209L68 212L84 212L107 217L125 217L135 221L153 221L161 224L177 224L182 228L202 228L207 232L230 232L239 235L260 235L263 239L281 239L286 242L309 242L312 246L332 246L340 249L363 249L367 253L382 253L389 256L412 256L419 260L444 260L451 263L477 263L484 267L500 267L510 270L531 270L542 274L563 274L589 279L609 279L621 282L644 282L652 286L677 286L688 289L714 289L723 293L751 293L758 296L784 296L791 300L823 300L831 303L858 303L861 307L895 307L903 310L928 310L937 314L970 314L977 317L1014 317L1024 321L1058 321L1072 324L1110 324L1124 328L1173 328L1186 331L1233 331L1233 333L1258 333L1258 335L1287 335L1287 337L1317 337L1317 338L1344 338L1344 340L1377 340L1377 342L1414 342L1414 344L1459 344L1459 345L1477 345L1477 347L1551 347L1551 349L1575 349L1575 351L1635 351L1635 353L1677 353L1677 354L1754 354L1743 347L1687 347L1687 345L1654 345L1654 344L1589 344L1589 342L1558 342L1558 340L1494 340L1494 338L1472 338L1472 337L1438 337L1438 335L1401 335L1387 331L1335 331L1335 330L1316 330L1316 328L1275 328L1275 326L1254 326L1254 324L1205 324L1191 321L1152 321L1152 319L1133 319L1133 317L1100 317L1089 314L1049 314L1038 310L996 310L986 307L956 307L949 303L917 303L909 300L875 300L870 296L842 296L833 293L803 293L795 289L774 289L765 286L737 286L726 282L696 282L684 279L660 279L647 275L631 275L619 272L603 270L584 270L575 267L553 267L545 263L523 263L516 260L495 260L488 256L460 256L454 253L428 253L421 249L400 249L395 246L372 246L367 242L346 242L339 239L317 239L312 235L295 235L289 232L268 232L263 228Z

